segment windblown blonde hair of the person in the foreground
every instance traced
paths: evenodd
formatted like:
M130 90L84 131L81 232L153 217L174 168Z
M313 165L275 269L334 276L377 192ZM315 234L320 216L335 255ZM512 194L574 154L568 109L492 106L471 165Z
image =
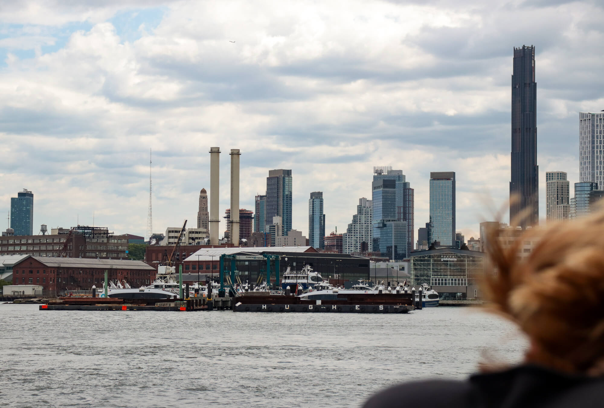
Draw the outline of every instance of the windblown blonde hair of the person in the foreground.
M527 363L573 374L604 374L604 211L527 229L504 248L492 228L484 289L489 308L528 335ZM523 241L538 241L519 258Z

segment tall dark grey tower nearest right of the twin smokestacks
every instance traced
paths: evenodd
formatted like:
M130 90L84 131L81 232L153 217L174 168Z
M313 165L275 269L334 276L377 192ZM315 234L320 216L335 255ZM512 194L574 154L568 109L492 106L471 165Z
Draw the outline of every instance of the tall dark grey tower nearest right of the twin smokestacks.
M266 177L265 225L272 225L272 217L281 217L284 235L292 229L292 171L269 170ZM265 231L268 232L268 231Z

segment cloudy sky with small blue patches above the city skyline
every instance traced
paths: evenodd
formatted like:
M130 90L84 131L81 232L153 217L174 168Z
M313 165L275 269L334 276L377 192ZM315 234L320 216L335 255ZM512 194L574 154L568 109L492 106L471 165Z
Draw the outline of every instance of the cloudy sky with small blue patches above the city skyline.
M541 218L545 171L578 181L577 112L604 109L602 0L84 3L0 5L0 212L33 191L34 234L94 212L146 235L149 148L153 231L196 226L219 146L221 215L239 148L240 206L291 168L305 235L310 192L344 232L376 165L423 226L429 172L455 171L467 239L509 196L514 46L536 46Z

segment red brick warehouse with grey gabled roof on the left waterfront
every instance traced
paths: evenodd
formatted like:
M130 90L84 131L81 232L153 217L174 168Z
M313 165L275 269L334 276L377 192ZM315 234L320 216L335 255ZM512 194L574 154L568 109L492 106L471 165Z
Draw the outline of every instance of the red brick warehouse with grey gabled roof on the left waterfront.
M54 258L28 255L13 265L14 285L40 285L46 296L63 295L69 290L103 287L104 271L108 279L126 281L132 287L149 285L156 270L143 261Z

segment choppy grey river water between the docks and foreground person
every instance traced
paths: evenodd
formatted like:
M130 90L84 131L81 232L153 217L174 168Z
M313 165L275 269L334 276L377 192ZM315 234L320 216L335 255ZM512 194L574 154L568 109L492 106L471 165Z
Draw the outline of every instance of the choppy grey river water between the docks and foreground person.
M525 343L474 308L410 314L39 311L0 305L0 406L358 407L422 377L463 378Z

